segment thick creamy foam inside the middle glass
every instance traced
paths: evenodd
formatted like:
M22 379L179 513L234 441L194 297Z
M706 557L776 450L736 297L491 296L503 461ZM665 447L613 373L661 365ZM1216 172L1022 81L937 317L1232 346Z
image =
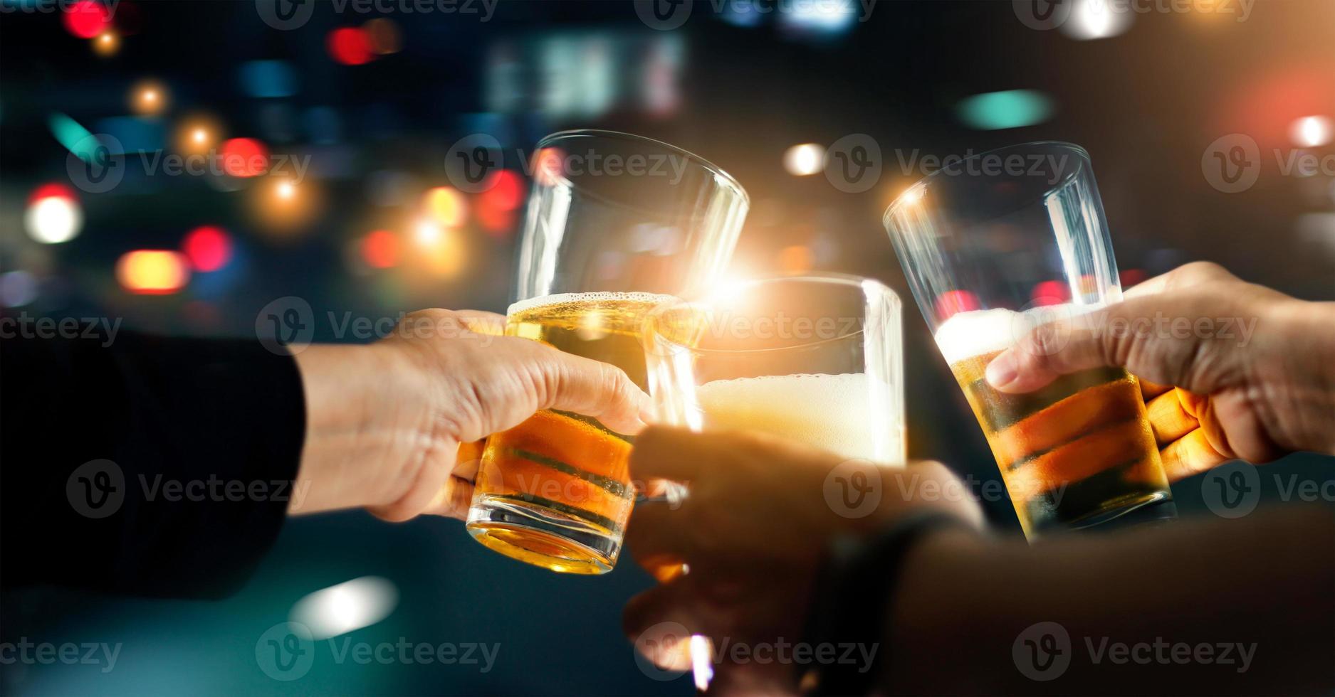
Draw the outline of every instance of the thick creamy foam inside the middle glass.
M858 457L904 461L902 414L870 413L865 373L781 374L705 382L697 390L709 428L758 430ZM889 433L886 453L876 436Z

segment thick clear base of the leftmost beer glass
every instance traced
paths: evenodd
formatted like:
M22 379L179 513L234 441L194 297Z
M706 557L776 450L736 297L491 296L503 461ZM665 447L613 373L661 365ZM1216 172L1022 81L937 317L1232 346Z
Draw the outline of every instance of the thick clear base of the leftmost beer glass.
M465 528L495 552L559 573L607 573L621 553L621 534L501 496L475 497Z

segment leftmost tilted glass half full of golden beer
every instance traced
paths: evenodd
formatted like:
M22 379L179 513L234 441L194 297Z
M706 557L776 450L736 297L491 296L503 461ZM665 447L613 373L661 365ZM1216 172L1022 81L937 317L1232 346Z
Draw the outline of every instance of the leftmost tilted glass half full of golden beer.
M647 389L641 324L710 287L732 257L746 192L655 140L567 131L538 143L506 335L609 362ZM555 409L487 438L467 530L510 557L603 573L634 504L634 440Z

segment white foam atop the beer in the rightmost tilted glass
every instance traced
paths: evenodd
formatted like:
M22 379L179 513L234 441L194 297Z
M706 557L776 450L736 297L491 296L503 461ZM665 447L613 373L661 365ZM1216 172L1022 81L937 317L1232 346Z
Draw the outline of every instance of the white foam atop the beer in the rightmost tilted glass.
M1044 323L1056 320L1079 323L1081 317L1103 307L1103 303L1088 305L1063 303L1029 308L1024 312L1005 308L957 312L941 323L932 336L941 349L941 356L945 356L945 362L955 362L1008 349Z

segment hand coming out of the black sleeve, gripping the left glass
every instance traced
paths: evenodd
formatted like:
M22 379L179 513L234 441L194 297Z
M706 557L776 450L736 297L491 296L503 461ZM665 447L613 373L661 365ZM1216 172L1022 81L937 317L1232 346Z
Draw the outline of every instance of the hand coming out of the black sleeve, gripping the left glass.
M553 408L621 433L643 428L647 397L621 369L497 336L503 324L499 315L429 309L379 343L298 353L306 445L294 490L306 493L288 512L366 506L394 521L462 518L478 461L461 444Z

